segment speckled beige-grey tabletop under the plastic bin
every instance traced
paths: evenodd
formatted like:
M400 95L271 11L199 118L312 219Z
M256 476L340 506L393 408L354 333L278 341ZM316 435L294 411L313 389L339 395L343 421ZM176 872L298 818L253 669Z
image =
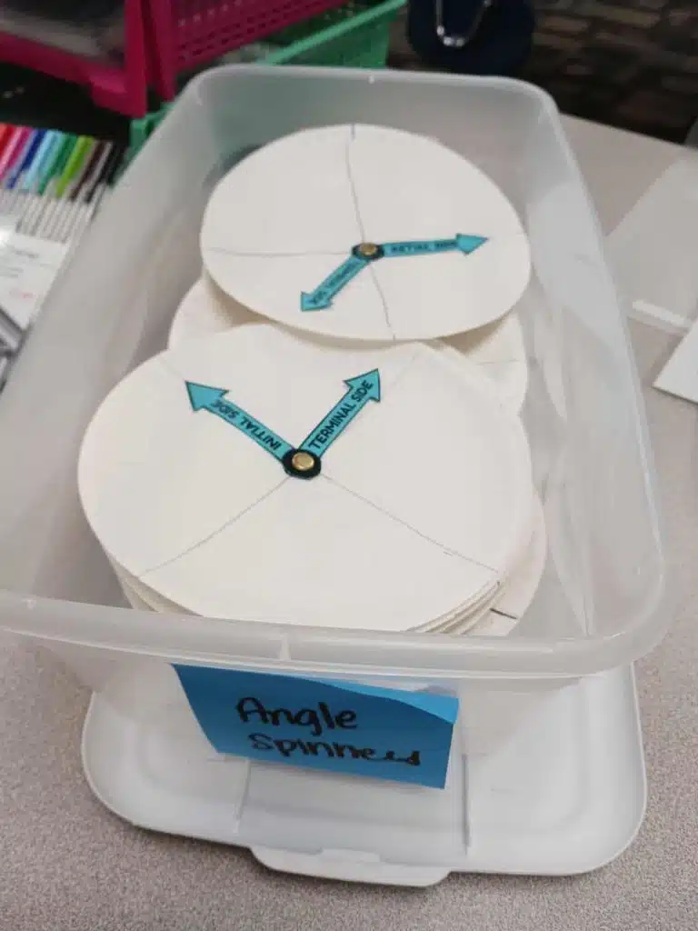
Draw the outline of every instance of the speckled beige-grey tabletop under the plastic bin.
M565 121L608 232L675 147ZM673 342L633 325L643 383ZM639 664L650 802L638 840L569 879L453 875L426 890L265 870L244 850L149 834L82 776L87 692L57 662L0 639L0 931L695 931L698 927L698 408L646 389L672 558L675 627Z

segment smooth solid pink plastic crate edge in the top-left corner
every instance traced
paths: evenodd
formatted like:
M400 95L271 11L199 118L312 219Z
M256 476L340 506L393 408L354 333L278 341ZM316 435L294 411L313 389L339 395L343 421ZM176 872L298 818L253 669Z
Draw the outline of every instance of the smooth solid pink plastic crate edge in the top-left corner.
M0 33L0 59L52 74L89 89L103 107L128 116L147 111L148 84L155 61L146 54L143 0L124 4L125 43L121 64L83 58L60 48Z

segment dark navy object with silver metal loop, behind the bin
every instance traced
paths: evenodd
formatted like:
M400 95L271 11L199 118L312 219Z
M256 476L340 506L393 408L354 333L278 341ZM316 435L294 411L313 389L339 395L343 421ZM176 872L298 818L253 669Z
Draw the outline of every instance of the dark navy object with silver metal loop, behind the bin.
M529 0L409 0L409 45L440 71L517 74L534 26Z

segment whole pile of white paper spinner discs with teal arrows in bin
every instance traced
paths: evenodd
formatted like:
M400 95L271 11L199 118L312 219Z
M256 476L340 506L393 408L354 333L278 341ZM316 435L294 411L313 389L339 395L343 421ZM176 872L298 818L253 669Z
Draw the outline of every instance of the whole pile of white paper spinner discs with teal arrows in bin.
M432 139L315 128L222 178L200 247L167 349L79 457L130 603L509 633L546 539L519 417L530 250L503 192Z

